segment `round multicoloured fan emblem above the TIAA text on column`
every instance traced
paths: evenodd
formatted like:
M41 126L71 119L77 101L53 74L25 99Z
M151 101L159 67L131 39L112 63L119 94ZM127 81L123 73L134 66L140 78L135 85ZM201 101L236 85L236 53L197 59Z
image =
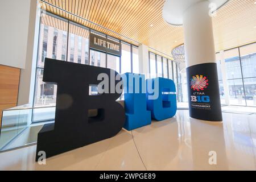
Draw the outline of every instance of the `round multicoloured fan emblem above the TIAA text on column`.
M203 75L196 75L193 76L191 79L191 89L195 90L195 91L203 91L204 89L206 89L208 87L208 82L209 80L207 79L207 77L204 77Z

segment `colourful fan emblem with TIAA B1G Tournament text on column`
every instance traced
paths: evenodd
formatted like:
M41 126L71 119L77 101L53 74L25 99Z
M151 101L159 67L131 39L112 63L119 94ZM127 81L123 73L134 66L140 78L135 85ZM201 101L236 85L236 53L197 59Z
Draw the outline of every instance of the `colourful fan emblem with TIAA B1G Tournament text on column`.
M210 97L205 96L205 90L209 86L209 80L206 76L196 75L191 78L191 106L195 109L210 109Z

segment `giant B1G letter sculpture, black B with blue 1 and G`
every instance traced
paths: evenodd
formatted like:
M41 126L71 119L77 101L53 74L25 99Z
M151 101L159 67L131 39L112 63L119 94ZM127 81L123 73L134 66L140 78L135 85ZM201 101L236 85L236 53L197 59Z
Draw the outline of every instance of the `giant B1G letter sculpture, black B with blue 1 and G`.
M108 68L46 59L43 81L57 85L55 123L38 133L38 154L51 157L114 137L124 127L134 130L176 114L174 81L119 75ZM98 94L90 88L97 85ZM125 109L117 102L125 91ZM97 110L93 115L91 111Z

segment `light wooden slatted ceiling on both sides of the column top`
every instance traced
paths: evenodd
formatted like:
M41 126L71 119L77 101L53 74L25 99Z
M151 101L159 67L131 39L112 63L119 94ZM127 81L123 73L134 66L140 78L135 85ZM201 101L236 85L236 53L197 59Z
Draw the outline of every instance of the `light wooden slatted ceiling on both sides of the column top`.
M47 11L115 38L145 44L171 56L172 48L182 44L183 28L170 26L162 17L164 0L45 0L52 5L100 24L123 36L89 23L43 3ZM256 40L255 0L230 0L213 17L216 51ZM153 49L151 51L155 52Z

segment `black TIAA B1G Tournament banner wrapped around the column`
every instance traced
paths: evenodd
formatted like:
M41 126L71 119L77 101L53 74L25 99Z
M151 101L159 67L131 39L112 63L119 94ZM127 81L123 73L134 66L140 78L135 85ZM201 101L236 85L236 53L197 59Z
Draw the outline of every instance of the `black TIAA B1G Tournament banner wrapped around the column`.
M189 115L205 121L222 121L216 63L187 68Z

